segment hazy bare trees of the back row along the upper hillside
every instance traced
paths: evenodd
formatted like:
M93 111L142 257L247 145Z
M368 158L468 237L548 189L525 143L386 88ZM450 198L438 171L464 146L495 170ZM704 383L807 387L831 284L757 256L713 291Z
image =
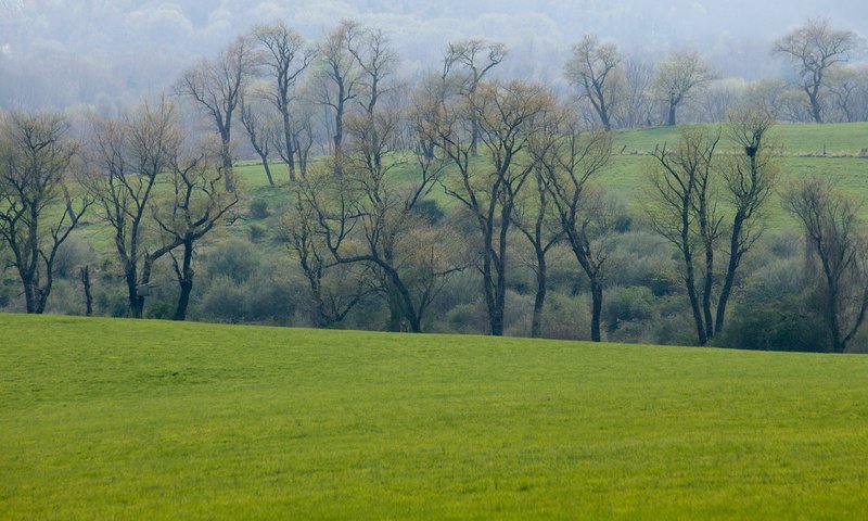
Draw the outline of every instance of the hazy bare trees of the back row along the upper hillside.
M773 52L793 64L790 81L722 81L698 52L674 52L658 64L624 56L611 42L586 35L573 48L564 77L578 98L583 122L595 128L675 125L691 103L693 119L725 119L739 103L761 103L778 117L822 123L868 117L866 69L846 67L858 38L828 21L809 20L776 40ZM306 41L283 23L259 25L214 58L201 59L175 84L213 123L231 187L232 124L240 120L250 148L271 182L271 163L285 163L290 180L307 170L311 150L343 152L346 117L370 114L390 90L427 96L474 96L508 59L498 43L470 39L446 46L439 67L414 86L398 78L399 54L388 36L344 21L321 41ZM438 92L437 89L441 91ZM800 93L801 92L801 93ZM699 101L702 103L699 103ZM704 105L704 106L699 106ZM472 122L471 122L472 123ZM473 132L472 151L478 136Z

